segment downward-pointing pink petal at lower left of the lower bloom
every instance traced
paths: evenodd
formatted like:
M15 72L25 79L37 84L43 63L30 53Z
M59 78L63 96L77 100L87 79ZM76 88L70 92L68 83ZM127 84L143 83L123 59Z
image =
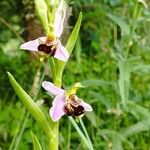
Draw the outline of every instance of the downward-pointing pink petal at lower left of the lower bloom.
M65 96L57 95L52 103L52 107L49 111L52 120L58 121L64 114Z

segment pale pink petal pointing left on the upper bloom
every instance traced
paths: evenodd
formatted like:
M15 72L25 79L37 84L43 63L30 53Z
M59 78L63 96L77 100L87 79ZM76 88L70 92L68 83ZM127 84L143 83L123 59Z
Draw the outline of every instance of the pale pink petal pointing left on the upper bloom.
M38 51L38 46L41 43L46 42L46 37L40 37L38 39L28 41L20 46L20 49L30 50L30 51Z

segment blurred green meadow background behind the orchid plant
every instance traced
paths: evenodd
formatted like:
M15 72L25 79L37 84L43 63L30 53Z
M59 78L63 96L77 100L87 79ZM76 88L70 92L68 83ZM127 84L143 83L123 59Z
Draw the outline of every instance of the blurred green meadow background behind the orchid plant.
M63 75L63 87L75 82L86 85L78 95L93 107L83 122L94 149L150 150L150 2L72 0L69 4L70 19L62 36L64 44L80 11L83 20ZM0 8L0 149L8 150L25 109L6 71L32 97L35 96L33 83L40 77L51 78L37 54L19 49L23 41L44 35L34 2L1 0ZM125 107L121 104L122 89L128 95ZM48 115L52 98L40 88L37 100L44 100L42 108ZM47 149L43 132L32 117L17 149L32 149L30 130L37 135L43 149ZM60 149L87 149L67 117L60 121Z

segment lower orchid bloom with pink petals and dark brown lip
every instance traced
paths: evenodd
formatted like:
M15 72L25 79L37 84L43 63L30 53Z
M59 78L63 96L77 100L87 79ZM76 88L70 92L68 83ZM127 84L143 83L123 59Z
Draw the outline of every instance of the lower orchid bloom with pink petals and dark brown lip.
M69 91L56 87L48 81L44 81L42 86L48 93L56 96L49 111L54 122L63 115L82 117L86 111L92 111L89 104L75 95L77 88L79 88L78 83Z

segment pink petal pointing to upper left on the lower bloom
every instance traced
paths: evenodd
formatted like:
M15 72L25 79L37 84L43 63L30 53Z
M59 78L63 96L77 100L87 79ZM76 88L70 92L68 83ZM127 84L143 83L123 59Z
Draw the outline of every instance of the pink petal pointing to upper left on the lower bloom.
M64 90L56 87L53 83L48 82L48 81L43 81L42 82L42 87L49 93L53 94L53 95L63 95L64 94Z

